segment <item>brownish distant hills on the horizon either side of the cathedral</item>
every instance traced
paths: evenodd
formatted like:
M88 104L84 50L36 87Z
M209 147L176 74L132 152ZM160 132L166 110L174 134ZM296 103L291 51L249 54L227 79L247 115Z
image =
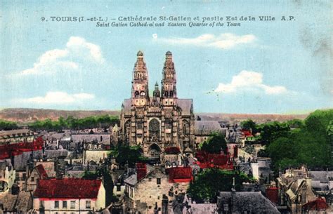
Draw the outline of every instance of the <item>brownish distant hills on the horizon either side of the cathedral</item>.
M0 110L0 119L15 121L19 123L29 123L37 120L51 119L57 120L60 116L74 116L84 118L86 116L96 116L110 114L119 116L119 111L67 111L55 109L2 109ZM246 119L252 119L256 123L265 123L266 121L287 121L291 119L305 119L308 114L223 114L223 113L198 113L202 120L207 121L228 121L229 123L238 123Z

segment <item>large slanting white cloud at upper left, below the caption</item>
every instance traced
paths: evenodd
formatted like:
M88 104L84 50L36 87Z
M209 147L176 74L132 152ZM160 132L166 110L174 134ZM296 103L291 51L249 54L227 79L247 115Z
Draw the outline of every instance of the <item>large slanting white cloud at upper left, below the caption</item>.
M100 46L89 43L79 36L71 36L64 49L46 51L38 58L32 68L16 72L11 76L68 72L79 69L82 61L103 63L104 58Z

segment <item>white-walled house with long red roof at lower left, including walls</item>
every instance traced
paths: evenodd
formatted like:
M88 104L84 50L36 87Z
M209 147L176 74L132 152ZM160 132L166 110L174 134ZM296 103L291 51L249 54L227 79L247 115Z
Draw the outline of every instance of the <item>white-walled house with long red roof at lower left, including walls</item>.
M33 197L37 213L88 214L105 208L105 188L101 180L39 180Z

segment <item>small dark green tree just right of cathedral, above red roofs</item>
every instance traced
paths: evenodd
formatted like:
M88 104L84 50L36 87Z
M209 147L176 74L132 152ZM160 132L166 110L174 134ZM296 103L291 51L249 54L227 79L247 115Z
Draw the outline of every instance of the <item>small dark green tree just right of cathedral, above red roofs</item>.
M227 151L227 142L221 133L214 133L207 141L200 145L200 149L210 154L220 154L221 151Z

